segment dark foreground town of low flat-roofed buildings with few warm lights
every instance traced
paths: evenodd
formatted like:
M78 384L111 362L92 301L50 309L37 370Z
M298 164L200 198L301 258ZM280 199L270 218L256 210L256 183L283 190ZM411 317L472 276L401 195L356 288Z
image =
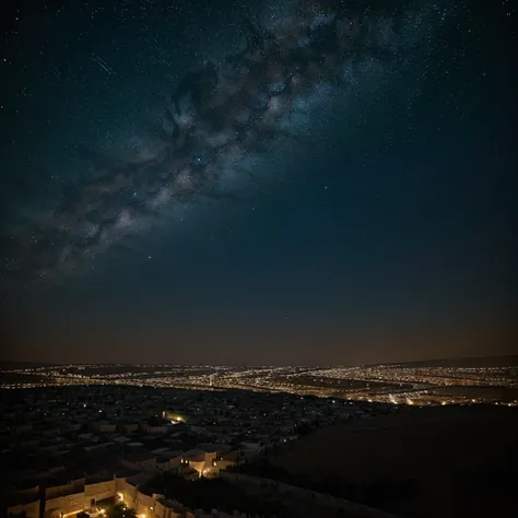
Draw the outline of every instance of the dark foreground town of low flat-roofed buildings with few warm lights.
M125 503L139 518L195 516L149 482L164 473L215 478L297 438L304 426L373 411L251 391L70 386L0 393L2 509L24 518L84 509L95 518L103 502Z

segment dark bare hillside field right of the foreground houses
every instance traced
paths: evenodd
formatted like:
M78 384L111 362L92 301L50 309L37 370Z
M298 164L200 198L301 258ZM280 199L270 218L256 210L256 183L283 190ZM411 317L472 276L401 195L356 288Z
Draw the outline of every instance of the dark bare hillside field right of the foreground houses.
M402 517L516 516L517 437L516 408L408 409L322 428L276 463L311 476L414 480L416 494L386 506Z

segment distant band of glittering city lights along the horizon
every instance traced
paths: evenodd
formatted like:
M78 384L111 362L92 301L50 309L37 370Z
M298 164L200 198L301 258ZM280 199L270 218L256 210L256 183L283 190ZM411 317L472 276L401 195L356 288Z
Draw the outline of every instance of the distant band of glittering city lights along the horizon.
M397 404L518 404L518 366L60 365L0 372L0 387L78 385L249 390Z

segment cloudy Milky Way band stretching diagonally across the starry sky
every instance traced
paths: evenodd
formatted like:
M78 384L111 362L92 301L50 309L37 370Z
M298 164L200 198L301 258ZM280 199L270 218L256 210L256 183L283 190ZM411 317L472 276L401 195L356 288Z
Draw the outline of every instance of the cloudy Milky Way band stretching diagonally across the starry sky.
M399 70L425 58L447 15L437 4L303 4L244 20L240 47L193 60L144 129L121 131L111 145L71 142L81 170L44 201L17 204L4 225L4 275L55 282L91 270L114 245L173 225L186 208L239 200L271 179L264 156L282 149L279 160L289 161L316 141L333 107L354 117L360 94L363 103L382 97Z

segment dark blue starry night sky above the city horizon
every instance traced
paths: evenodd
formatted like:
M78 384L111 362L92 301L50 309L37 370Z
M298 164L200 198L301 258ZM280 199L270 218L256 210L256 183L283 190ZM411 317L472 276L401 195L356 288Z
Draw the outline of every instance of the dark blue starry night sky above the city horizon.
M511 2L12 3L0 44L3 360L516 352ZM255 83L228 71L246 19L302 56L318 27L354 36L326 74L304 69L274 91L278 69L256 66ZM217 109L187 96L175 114L172 94L204 60ZM243 141L233 110L250 117Z

